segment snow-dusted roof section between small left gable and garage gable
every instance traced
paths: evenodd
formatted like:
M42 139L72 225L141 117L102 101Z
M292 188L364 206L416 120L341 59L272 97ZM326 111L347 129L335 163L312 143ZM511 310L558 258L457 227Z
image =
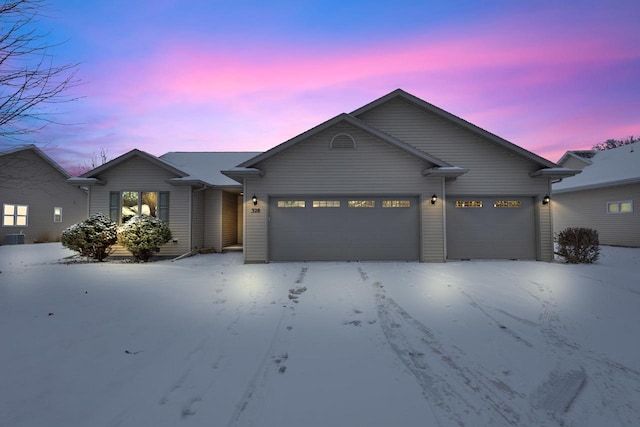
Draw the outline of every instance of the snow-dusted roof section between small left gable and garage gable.
M172 180L198 180L214 186L237 186L238 183L220 171L259 155L259 152L169 152L160 159L179 167L188 177Z

